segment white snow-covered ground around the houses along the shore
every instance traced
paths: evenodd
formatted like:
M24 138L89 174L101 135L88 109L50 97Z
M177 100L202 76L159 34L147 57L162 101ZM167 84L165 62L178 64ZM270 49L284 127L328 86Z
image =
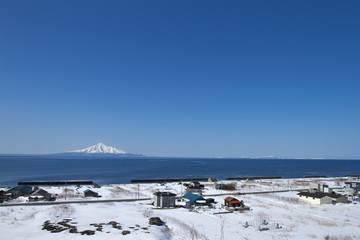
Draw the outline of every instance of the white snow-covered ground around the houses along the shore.
M360 239L359 204L302 203L297 201L296 191L232 195L234 192L304 189L316 181L340 187L346 180L349 179L236 181L237 190L227 192L216 190L213 183L203 183L206 185L204 195L228 195L212 197L217 202L215 208L199 207L192 211L181 207L153 209L150 201L0 207L0 239ZM83 200L83 191L89 188L44 187L58 194L61 201L65 195L66 200ZM119 199L152 197L157 190L180 196L185 188L178 183L167 183L107 185L91 190L98 192L100 199ZM244 200L251 210L216 214L224 212L220 206L227 196ZM24 202L26 198L16 201ZM165 225L149 225L150 217L160 217ZM65 222L78 233L70 233L71 228L58 233L42 230L46 221L64 227L61 225L64 219L68 219ZM84 230L94 230L95 234L81 235L79 232ZM130 233L123 235L124 230Z

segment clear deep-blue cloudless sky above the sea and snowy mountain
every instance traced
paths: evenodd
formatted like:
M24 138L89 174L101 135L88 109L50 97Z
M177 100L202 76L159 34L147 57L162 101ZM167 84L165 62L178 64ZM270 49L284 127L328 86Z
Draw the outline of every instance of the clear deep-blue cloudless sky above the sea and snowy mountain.
M360 1L0 1L0 153L360 159Z

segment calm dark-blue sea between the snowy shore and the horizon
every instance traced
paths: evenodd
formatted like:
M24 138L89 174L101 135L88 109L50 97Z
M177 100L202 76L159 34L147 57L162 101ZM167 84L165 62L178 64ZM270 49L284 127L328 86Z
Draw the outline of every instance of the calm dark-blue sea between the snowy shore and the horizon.
M282 176L329 177L360 174L360 160L295 159L112 159L62 156L0 156L0 186L18 181L92 180L98 184L131 179Z

